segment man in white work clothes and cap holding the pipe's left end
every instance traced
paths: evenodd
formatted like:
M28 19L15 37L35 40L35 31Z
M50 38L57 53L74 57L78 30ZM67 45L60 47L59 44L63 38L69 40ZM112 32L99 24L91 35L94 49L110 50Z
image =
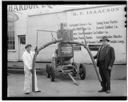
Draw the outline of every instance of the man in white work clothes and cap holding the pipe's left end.
M25 81L24 81L24 93L29 94L32 91L32 61L35 52L31 51L32 45L27 44L25 46L25 51L23 53L22 59L24 63L24 74L25 74ZM36 92L41 92L38 90L37 87L37 76L35 71L35 90Z

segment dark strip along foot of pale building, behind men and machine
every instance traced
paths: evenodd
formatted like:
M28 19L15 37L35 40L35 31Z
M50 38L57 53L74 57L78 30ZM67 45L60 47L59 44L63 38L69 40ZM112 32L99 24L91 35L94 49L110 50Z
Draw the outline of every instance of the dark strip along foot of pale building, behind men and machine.
M46 74L46 64L48 63L36 63L37 74ZM97 79L96 72L92 64L85 64L86 66L86 78ZM23 62L8 62L8 73L22 73L23 74ZM111 78L116 80L126 80L127 65L114 65L111 73Z

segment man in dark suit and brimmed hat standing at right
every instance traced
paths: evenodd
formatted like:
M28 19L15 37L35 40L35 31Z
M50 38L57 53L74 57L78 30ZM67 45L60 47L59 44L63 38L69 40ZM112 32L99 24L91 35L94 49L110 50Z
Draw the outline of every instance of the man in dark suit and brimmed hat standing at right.
M100 42L102 42L102 45L96 56L94 56L94 59L97 58L97 66L99 67L99 73L102 79L102 89L99 90L99 92L110 93L110 77L115 61L115 51L114 48L108 44L109 40L106 36L103 36Z

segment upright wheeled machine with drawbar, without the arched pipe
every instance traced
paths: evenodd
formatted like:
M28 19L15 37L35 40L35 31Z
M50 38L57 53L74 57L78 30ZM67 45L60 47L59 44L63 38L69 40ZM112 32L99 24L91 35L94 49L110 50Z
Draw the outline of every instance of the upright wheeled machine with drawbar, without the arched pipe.
M79 74L80 78L84 80L86 77L86 68L83 64L80 64L78 68L73 60L73 44L66 43L73 41L73 32L72 30L64 29L64 25L61 24L61 29L57 31L57 38L61 39L62 42L58 43L55 51L56 57L52 58L52 64L46 65L48 78L51 77L51 81L54 81L55 73L62 72L63 74L69 75L73 82L78 85L74 76Z

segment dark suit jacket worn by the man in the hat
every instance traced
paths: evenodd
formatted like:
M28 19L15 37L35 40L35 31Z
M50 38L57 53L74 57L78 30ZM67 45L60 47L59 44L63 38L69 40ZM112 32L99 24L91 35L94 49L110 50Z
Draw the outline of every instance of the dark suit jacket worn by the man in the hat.
M102 47L102 46L101 46ZM102 60L99 59L99 53L101 48L99 49L96 56L94 56L94 59L97 58L97 66L102 67L103 69L108 69L109 66L113 66L113 63L115 61L115 51L114 48L111 46L106 46L102 52Z

